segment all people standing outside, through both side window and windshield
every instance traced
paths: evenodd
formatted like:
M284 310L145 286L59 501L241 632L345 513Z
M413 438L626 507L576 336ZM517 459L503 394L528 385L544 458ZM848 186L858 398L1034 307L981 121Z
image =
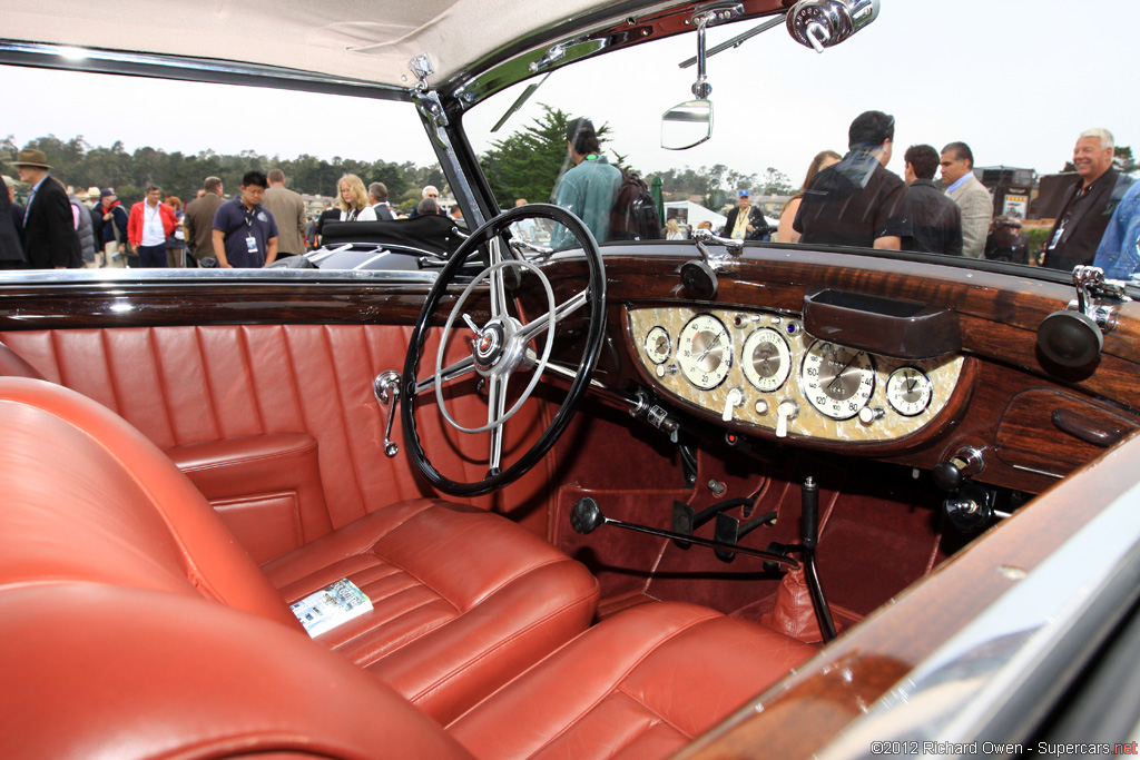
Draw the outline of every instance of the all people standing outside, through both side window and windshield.
M747 240L982 259L987 240L993 246L995 237L1016 230L1016 223L995 219L993 198L975 174L969 145L952 141L940 152L929 145L911 146L903 154L899 177L887 169L894 136L893 116L879 111L860 114L848 129L847 153L823 150L815 156L777 227L751 206L749 190L740 189L736 206L716 231ZM559 182L555 202L583 219L596 239L610 239L614 204L628 180L602 154L589 120L570 124L567 152L573 165ZM1062 194L1044 254L1035 263L1066 271L1094 264L1114 278L1140 270L1140 183L1114 166L1114 155L1108 130L1090 129L1078 136L1073 150L1076 177ZM22 150L14 164L31 190L26 206L19 206L10 178L5 178L0 269L259 268L315 247L329 221L399 218L388 188L382 182L366 188L356 174L339 180L335 206L310 218L278 169L268 175L246 172L239 194L229 201L221 180L207 177L185 209L181 199L163 197L161 187L148 183L144 199L127 209L111 188L68 193L51 177L41 150ZM935 180L939 170L940 182ZM439 190L423 188L410 216L440 213ZM671 240L692 234L676 220L667 221L661 231ZM567 235L559 226L551 244L571 244Z

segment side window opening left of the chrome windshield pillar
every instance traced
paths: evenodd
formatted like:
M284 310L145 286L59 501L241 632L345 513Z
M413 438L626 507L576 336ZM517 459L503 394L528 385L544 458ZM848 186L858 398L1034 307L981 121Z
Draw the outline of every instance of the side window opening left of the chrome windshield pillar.
M269 183L255 201L274 218L278 258L314 247L323 215L378 219L385 214L366 206L385 201L388 218L399 218L414 213L426 196L443 214L456 205L409 103L11 66L0 67L0 75L13 101L23 104L9 109L0 131L0 172L10 185L16 213L35 207L33 191L41 179L38 166L22 167L22 162L49 166L49 175L70 190L73 205L95 212L91 224L81 219L78 205L70 218L60 194L63 220L43 224L44 235L38 228L27 239L23 223L15 227L18 240L0 235L2 269L74 267L65 246L52 237L52 230L70 220L84 222L76 229L87 267L220 261L212 239L218 196L210 196L239 199L250 172L266 175L261 181ZM274 170L280 171L285 191L275 189ZM386 199L373 197L375 183L383 186ZM347 196L344 185L351 186ZM148 205L158 214L152 230L141 207L139 226L130 224L149 186L156 188L154 198L172 212ZM190 213L198 196L207 203ZM255 215L255 239L246 243L243 215L231 214L230 221L222 246L223 255L234 258L228 263L260 267L270 254L271 230L262 229L264 222ZM161 255L142 256L141 247ZM21 248L26 248L25 262L18 259Z

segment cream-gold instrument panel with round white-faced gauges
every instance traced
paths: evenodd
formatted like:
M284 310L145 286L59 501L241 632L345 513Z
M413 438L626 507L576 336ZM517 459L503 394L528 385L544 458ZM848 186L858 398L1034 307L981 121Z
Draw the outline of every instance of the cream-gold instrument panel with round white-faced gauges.
M638 359L665 395L784 436L879 442L942 411L962 357L910 360L807 334L798 316L742 309L628 310Z

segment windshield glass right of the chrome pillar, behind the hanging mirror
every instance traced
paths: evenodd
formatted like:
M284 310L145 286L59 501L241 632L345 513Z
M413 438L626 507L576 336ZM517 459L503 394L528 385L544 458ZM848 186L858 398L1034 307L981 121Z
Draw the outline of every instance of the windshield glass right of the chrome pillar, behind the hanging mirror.
M1116 229L1109 221L1137 173L1140 107L1113 74L1129 71L1129 52L1112 42L1106 18L1131 27L1140 9L1107 7L883 0L873 24L822 55L776 25L708 58L711 137L686 150L661 147L661 117L694 100L697 67L678 64L695 56L695 33L520 82L464 124L502 207L559 202L603 243L630 237L612 229L619 214L608 204L633 171L660 193L656 237L706 226L757 244L903 248L1065 271L1093 263L1106 238L1098 263L1126 276L1140 262L1127 220L1112 239L1106 230ZM709 27L707 47L765 21ZM691 111L674 112L667 140L699 119ZM588 134L573 150L568 129L579 117ZM568 244L556 230L528 234Z

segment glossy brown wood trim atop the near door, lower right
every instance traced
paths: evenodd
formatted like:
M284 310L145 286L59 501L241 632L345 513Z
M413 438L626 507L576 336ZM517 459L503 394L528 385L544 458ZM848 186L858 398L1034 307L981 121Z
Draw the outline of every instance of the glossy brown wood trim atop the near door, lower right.
M678 757L807 758L1135 483L1140 435L1108 451L872 614Z

